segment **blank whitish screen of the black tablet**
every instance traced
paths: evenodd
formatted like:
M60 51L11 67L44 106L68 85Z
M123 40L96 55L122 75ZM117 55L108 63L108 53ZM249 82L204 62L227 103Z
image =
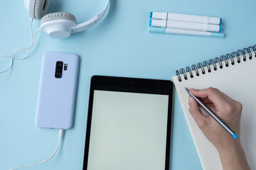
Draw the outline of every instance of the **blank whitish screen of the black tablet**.
M168 95L94 91L87 169L164 170L168 102Z

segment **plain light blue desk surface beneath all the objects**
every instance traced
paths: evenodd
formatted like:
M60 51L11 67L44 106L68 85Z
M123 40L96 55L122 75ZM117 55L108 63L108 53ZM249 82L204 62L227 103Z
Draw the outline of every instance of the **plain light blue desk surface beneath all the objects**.
M81 22L105 4L106 0L55 0L49 11L73 13ZM65 131L63 144L50 162L27 169L82 169L92 75L170 80L176 69L254 45L255 6L253 0L111 0L107 16L89 30L65 40L39 33L31 55L0 74L0 169L43 161L58 144L58 130L37 128L34 123L44 52L80 56L75 126ZM4 1L0 8L0 55L10 55L14 48L30 45L30 18L23 1ZM150 11L221 17L225 38L148 33ZM33 28L38 27L39 21L34 21ZM0 68L6 61L0 61ZM176 92L171 169L202 169Z

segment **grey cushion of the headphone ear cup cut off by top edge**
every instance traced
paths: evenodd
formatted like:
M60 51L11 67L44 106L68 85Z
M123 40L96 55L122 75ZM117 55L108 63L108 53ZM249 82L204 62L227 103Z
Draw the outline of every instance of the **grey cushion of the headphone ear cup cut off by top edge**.
M33 15L35 19L41 19L43 16L46 15L50 0L35 0L33 8Z

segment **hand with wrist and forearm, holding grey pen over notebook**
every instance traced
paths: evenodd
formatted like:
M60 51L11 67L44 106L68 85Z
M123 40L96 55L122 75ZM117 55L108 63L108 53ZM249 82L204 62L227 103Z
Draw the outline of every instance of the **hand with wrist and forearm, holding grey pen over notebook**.
M206 138L218 150L223 169L250 169L240 144L242 104L211 87L202 90L190 89L189 91L194 96L201 98L201 101L209 108L215 108L216 114L239 136L235 140L210 115L203 115L194 98L188 97L189 112Z

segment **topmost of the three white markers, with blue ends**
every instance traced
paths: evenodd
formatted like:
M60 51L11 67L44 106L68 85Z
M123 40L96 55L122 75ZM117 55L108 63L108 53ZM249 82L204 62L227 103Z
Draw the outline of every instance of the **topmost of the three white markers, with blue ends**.
M221 18L208 17L208 16L193 16L181 13L166 13L166 12L151 12L150 18L162 19L162 20L173 20L173 21L186 21L193 23L210 23L210 24L221 24Z

